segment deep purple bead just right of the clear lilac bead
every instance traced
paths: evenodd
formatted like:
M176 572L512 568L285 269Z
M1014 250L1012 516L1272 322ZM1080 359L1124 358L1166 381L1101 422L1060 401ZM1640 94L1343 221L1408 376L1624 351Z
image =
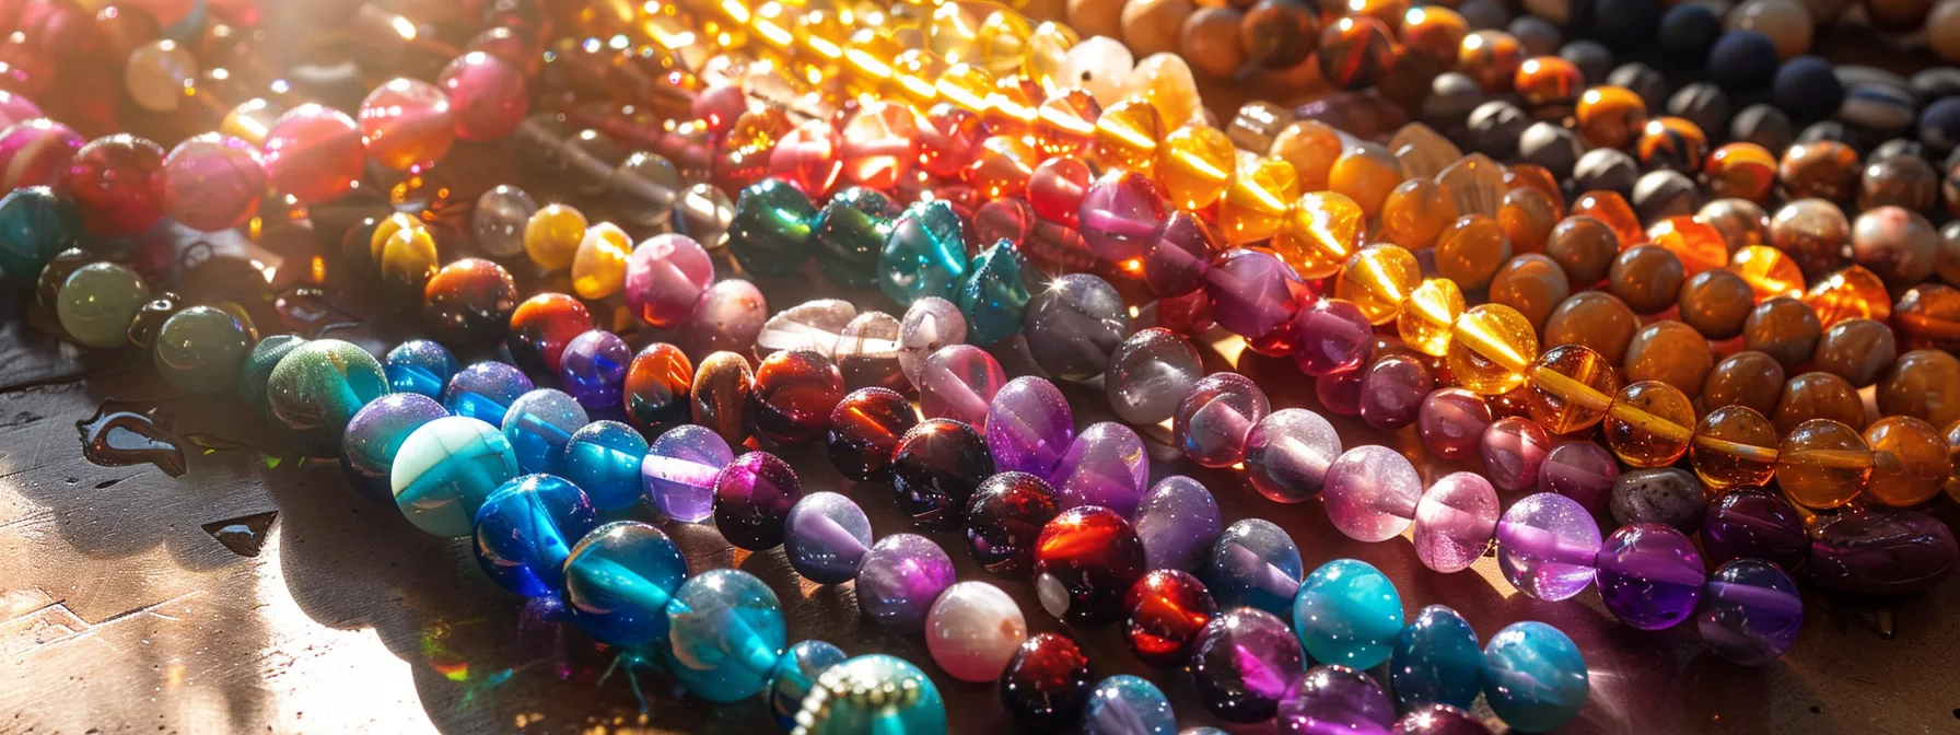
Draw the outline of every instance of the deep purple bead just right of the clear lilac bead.
M1642 631L1688 619L1709 578L1693 541L1660 523L1633 523L1613 531L1593 564L1605 610Z

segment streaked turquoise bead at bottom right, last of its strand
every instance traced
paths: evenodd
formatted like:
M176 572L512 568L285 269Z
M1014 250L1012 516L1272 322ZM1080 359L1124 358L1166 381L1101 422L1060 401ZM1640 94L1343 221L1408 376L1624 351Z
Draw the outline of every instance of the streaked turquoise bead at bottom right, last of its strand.
M1484 698L1511 729L1552 731L1586 708L1586 657L1556 627L1511 623L1484 645Z

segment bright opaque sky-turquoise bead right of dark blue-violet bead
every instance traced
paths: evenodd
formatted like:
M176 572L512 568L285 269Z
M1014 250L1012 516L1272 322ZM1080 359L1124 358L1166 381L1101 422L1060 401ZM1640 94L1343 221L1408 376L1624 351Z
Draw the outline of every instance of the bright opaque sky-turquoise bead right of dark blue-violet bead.
M1372 564L1335 559L1299 582L1294 633L1313 661L1374 668L1401 633L1401 594Z

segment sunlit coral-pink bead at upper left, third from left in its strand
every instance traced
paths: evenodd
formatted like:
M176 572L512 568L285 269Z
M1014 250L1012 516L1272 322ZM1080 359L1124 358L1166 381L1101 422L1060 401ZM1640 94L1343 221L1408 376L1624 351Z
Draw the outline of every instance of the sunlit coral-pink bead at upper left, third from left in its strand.
M274 188L300 204L331 202L347 194L361 178L365 159L361 125L318 102L278 116L265 135L265 172Z

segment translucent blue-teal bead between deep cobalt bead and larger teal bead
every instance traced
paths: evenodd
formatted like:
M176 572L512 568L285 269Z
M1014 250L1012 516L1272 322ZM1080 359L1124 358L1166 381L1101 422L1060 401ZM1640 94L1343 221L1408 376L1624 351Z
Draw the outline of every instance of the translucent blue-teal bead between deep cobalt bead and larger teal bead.
M564 559L564 602L586 635L647 645L666 639L668 604L684 578L688 563L666 533L615 521L586 533Z

